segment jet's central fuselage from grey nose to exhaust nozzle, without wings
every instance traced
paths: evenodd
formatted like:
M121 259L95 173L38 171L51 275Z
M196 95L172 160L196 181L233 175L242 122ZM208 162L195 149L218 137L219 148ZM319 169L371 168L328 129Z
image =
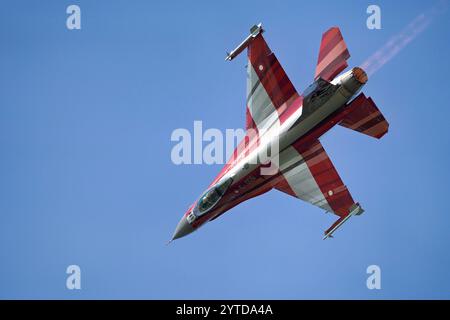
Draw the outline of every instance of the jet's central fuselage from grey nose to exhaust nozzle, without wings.
M367 76L360 68L336 77L332 82L318 79L305 91L301 105L286 120L274 122L259 133L258 139L245 146L245 152L235 159L236 164L223 171L208 190L197 200L180 220L173 239L185 236L206 222L217 218L237 204L271 190L282 179L284 170L299 165L291 159L293 146L308 145L336 125L345 113L347 103L366 83ZM253 145L252 145L253 144ZM270 156L268 156L271 151ZM265 161L262 162L261 159ZM279 167L282 159L283 167ZM301 161L301 160L300 160ZM226 190L211 207L199 207L214 198L215 186L226 184ZM211 191L212 190L212 191Z

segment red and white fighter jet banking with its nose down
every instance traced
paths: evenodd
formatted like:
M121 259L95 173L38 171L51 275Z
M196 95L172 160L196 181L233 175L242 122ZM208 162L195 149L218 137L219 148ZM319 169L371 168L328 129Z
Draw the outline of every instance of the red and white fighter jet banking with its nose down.
M355 67L337 76L347 68L350 54L339 28L333 27L322 36L314 82L299 94L263 32L261 24L253 26L226 57L231 61L248 49L246 136L181 218L172 240L274 188L339 216L324 239L351 216L364 212L319 138L336 124L378 139L388 131L389 124L372 99L357 95L367 82L366 73Z

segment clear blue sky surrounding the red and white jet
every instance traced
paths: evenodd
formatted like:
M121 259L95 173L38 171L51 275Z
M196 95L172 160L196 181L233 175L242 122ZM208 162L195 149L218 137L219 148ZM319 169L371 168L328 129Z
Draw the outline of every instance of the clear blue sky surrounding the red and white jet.
M0 298L450 298L449 13L364 90L389 134L323 139L366 210L335 239L334 216L272 191L165 246L221 167L173 165L172 131L244 125L246 61L225 51L262 21L301 91L330 26L358 65L431 5L373 3L382 30L367 1L3 1Z

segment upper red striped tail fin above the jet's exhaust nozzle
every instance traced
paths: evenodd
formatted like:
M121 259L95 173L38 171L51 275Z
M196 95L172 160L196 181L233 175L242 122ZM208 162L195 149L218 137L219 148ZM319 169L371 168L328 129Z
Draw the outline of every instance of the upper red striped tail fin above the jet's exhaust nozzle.
M350 58L350 53L341 31L337 27L330 28L322 35L314 80L319 77L327 81L333 80L347 68L348 58Z

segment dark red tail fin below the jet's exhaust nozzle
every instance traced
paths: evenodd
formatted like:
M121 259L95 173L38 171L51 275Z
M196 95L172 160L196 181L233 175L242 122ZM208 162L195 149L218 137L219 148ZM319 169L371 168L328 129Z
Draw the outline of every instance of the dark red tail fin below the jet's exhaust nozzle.
M341 126L380 139L388 132L386 121L372 98L361 93L348 105L352 111L339 123Z

